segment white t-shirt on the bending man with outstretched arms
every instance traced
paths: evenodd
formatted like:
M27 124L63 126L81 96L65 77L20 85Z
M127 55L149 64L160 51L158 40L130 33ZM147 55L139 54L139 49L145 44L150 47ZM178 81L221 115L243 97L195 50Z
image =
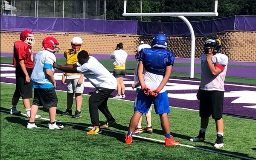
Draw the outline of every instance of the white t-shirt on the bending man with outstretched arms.
M80 65L76 63L77 71L84 75L94 87L116 89L116 78L93 56L89 56L87 63Z

